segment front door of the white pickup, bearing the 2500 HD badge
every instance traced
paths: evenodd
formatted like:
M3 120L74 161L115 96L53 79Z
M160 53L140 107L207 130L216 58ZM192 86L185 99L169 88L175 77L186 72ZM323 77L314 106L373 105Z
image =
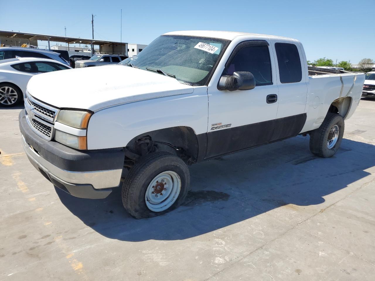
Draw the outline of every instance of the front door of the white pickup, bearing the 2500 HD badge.
M232 42L234 44L235 42ZM208 85L208 129L205 158L239 151L270 141L278 111L278 87L270 41L239 42L229 55L223 56ZM228 47L228 49L230 46ZM219 91L222 75L235 71L251 72L256 80L252 90ZM219 72L219 75L217 75Z

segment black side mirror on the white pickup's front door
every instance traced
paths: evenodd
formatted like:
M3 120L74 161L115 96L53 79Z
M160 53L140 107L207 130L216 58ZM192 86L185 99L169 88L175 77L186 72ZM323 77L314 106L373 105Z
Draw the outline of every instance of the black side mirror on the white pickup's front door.
M217 89L220 91L251 90L255 88L255 78L251 72L236 71L233 75L223 75L220 77Z

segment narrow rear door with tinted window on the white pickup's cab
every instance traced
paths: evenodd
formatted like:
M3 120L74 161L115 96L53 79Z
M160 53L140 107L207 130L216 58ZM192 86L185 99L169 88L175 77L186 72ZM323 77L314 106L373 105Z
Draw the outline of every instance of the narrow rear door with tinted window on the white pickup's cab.
M294 39L271 39L275 53L279 109L271 141L297 136L306 121L307 70L305 53Z

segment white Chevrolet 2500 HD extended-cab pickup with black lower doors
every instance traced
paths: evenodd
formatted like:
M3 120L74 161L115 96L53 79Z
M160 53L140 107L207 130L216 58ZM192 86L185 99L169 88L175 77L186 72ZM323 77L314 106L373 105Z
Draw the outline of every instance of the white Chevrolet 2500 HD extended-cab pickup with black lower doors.
M115 66L31 78L22 142L56 187L96 199L121 185L130 215L153 217L184 201L189 164L299 134L332 156L364 80L308 67L290 38L170 32Z

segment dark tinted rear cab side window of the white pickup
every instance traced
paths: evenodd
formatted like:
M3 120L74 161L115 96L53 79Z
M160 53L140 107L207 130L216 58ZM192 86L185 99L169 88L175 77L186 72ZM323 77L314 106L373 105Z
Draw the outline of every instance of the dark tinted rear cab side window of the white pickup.
M301 59L296 45L275 43L281 83L296 83L302 80Z

